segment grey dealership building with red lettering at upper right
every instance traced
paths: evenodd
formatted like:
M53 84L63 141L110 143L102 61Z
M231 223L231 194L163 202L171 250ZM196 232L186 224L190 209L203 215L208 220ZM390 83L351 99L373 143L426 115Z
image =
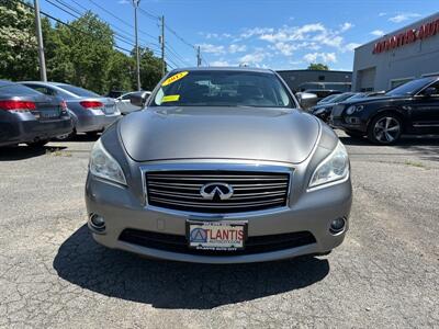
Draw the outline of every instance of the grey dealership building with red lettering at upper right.
M439 75L439 13L389 33L354 50L352 90L389 90Z

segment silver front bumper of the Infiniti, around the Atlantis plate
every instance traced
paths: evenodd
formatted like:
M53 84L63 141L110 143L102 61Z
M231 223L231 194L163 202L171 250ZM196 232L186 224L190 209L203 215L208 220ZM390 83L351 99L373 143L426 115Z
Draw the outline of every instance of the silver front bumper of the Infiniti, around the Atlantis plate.
M348 229L333 235L329 224L338 217L349 217L352 191L350 180L325 189L306 192L284 208L248 216L227 216L229 220L247 220L248 237L283 235L308 231L315 242L270 252L230 256L205 256L173 252L120 239L125 229L136 229L164 235L185 236L185 223L194 217L160 208L144 206L130 188L112 184L89 174L86 185L88 214L98 214L105 219L105 230L92 229L97 242L109 248L132 251L146 257L172 261L200 263L245 263L293 258L302 254L325 253L339 246ZM200 216L196 216L200 217ZM90 227L90 224L89 224Z

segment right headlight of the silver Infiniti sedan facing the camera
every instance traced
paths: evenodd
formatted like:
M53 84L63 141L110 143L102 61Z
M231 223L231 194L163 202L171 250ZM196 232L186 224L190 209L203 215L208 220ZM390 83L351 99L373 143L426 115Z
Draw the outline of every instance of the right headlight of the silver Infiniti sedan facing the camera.
M338 141L334 151L322 161L313 173L309 188L340 181L349 177L349 157L345 146Z

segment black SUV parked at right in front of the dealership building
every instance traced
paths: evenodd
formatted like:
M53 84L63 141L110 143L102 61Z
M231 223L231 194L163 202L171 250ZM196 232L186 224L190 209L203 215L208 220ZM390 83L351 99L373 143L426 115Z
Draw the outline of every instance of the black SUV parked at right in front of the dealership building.
M333 109L330 124L383 145L402 134L439 134L439 77L412 80L381 97L347 100Z

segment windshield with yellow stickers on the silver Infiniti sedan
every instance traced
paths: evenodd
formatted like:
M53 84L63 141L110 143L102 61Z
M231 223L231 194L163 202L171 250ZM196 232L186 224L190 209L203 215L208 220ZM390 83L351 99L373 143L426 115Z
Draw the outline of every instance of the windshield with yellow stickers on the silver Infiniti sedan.
M292 101L272 73L250 71L182 71L166 79L151 106L292 107Z

